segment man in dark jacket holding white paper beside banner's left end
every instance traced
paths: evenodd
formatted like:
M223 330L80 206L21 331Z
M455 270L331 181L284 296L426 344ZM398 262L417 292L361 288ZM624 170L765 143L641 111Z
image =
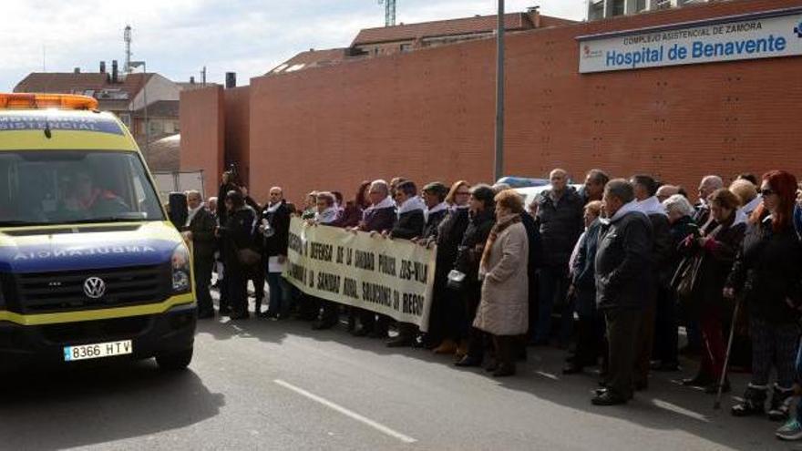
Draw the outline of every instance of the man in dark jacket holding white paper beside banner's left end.
M289 311L290 292L282 279L290 240L290 210L280 187L270 189L270 201L262 210L260 230L264 235L264 261L270 304L264 316L280 318Z

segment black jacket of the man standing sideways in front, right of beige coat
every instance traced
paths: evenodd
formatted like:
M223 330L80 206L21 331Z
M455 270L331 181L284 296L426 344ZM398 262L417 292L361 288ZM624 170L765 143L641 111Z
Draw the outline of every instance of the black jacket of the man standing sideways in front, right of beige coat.
M640 211L602 226L596 251L596 305L641 309L653 290L652 223Z

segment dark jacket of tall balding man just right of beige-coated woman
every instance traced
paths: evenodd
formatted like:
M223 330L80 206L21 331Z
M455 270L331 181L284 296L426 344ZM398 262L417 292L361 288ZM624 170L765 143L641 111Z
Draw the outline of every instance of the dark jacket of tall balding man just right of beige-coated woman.
M571 251L579 240L584 225L584 203L572 187L565 189L557 203L551 200L551 190L540 193L538 225L543 249L543 265L568 267Z

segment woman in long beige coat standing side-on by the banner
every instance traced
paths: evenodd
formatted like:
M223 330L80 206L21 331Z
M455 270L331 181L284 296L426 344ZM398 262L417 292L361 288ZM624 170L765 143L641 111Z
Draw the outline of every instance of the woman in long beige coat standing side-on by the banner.
M496 225L479 266L482 300L473 325L493 337L496 377L515 374L515 343L529 329L529 241L522 212L514 190L496 195Z

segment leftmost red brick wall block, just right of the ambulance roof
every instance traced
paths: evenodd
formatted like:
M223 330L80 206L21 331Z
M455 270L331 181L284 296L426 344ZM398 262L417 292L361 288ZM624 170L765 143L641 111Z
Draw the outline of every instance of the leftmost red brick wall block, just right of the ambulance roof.
M203 170L207 196L216 196L223 168L224 110L221 87L180 94L181 170Z

